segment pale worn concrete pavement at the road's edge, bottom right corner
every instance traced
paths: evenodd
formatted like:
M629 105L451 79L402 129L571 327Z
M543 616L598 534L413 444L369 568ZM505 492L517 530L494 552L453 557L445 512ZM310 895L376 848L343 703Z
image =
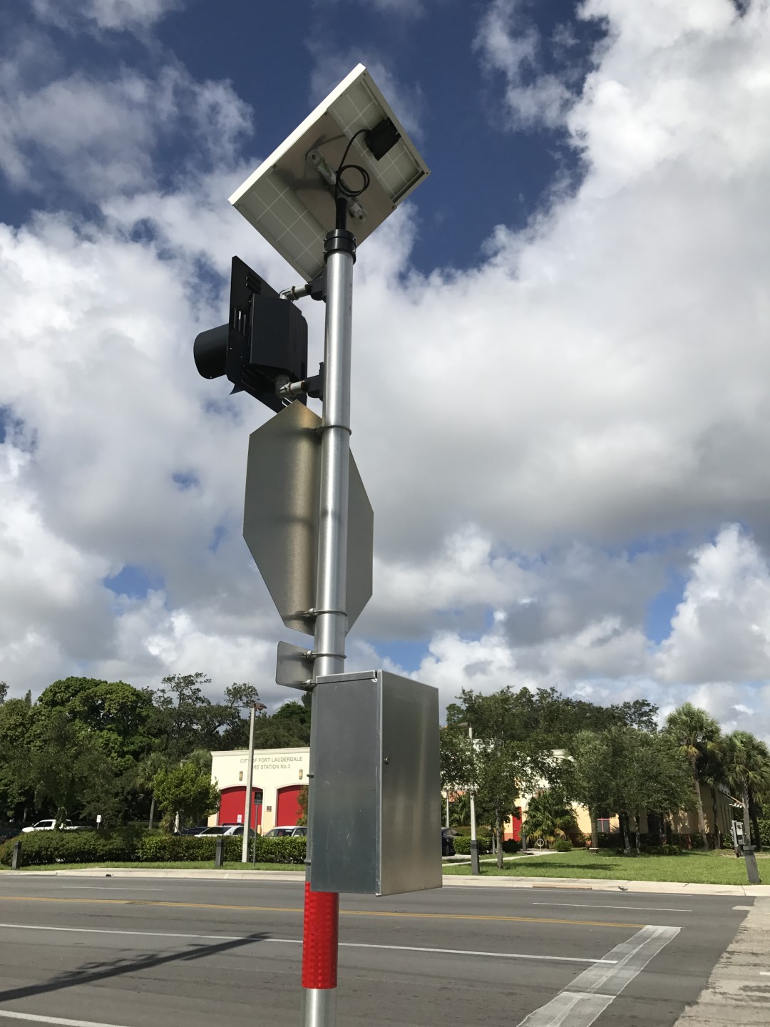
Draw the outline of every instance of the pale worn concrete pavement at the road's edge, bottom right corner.
M770 1025L770 900L760 900L711 971L698 1000L676 1027Z

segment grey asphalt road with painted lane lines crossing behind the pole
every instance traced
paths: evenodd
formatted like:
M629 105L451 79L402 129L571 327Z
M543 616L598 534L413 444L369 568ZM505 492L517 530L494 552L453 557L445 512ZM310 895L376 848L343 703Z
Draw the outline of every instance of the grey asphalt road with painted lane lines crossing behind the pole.
M297 1027L302 895L301 881L2 875L0 1027ZM343 897L338 1023L669 1027L753 901Z

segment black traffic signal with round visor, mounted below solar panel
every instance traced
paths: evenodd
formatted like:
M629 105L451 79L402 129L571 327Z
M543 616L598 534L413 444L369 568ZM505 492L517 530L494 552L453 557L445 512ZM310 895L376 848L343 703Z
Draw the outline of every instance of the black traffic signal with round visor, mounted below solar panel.
M201 332L193 346L195 367L203 378L227 375L233 392L241 389L281 411L278 379L307 377L307 321L251 267L233 257L230 319ZM304 403L304 397L300 397Z

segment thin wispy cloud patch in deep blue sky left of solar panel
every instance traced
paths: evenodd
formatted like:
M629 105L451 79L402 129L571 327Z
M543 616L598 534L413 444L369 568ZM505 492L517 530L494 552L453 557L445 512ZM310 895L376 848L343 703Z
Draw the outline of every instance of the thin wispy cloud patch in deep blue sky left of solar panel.
M154 78L78 71L41 83L29 68L38 56L8 61L0 77L0 170L17 188L65 184L89 200L132 192L154 182L156 151L182 132L194 142L177 174L189 175L231 163L249 128L227 82L196 82L175 64Z

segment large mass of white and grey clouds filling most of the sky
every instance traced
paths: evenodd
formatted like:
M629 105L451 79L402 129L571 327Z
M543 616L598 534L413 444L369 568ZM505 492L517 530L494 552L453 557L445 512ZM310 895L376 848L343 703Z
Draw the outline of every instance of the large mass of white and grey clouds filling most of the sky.
M586 11L609 35L566 115L580 188L524 232L500 226L462 274L410 268L414 207L359 251L352 446L376 595L348 664L426 639L417 673L445 699L554 684L663 711L692 698L767 731L770 11ZM14 690L87 650L87 671L137 683L203 670L277 694L274 644L291 636L239 538L247 433L267 411L198 379L191 344L224 319L232 254L280 288L295 276L227 205L252 169L245 109L169 69L0 86L15 183L105 182L93 223L0 229L0 405L22 422L3 444L0 544ZM78 109L60 130L50 111ZM208 162L159 182L158 140L180 125ZM322 311L303 309L317 362ZM698 545L724 523L746 528L696 549L656 655L647 606L683 543L649 539ZM162 584L117 600L102 579L125 564Z

